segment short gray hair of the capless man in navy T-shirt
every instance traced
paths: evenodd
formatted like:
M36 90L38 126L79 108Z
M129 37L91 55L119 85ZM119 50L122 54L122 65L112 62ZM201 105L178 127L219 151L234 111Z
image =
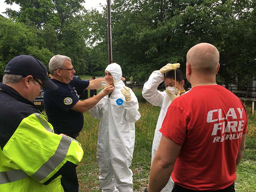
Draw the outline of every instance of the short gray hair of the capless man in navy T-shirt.
M49 61L49 70L51 75L56 75L56 70L62 68L65 60L68 60L71 62L71 59L64 55L54 55L51 60Z

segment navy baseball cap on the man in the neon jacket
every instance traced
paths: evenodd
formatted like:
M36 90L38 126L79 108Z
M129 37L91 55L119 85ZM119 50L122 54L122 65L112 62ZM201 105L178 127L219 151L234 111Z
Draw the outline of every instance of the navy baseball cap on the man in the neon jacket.
M58 89L58 86L49 79L45 65L30 55L14 57L6 65L4 73L22 76L31 75L34 79L41 79L46 88L53 90Z

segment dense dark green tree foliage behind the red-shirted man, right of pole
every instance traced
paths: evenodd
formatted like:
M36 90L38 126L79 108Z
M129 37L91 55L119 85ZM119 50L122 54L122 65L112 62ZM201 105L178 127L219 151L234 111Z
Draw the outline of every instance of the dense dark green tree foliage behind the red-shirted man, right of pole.
M112 5L113 60L125 75L146 79L166 63L181 63L193 45L208 42L220 52L218 80L234 83L255 76L255 2L114 0ZM106 10L91 12L93 40L105 43ZM254 18L254 19L253 19ZM107 62L105 60L105 62Z

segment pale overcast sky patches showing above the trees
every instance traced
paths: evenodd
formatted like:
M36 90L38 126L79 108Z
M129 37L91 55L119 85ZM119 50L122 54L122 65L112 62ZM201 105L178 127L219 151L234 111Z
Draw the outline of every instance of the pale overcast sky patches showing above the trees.
M100 5L101 3L101 5ZM85 3L83 4L86 9L97 9L99 12L103 10L102 5L106 5L107 0L85 0ZM5 8L11 8L13 10L20 10L20 6L13 3L12 5L7 5L4 3L4 0L0 0L0 14L6 16L4 13Z

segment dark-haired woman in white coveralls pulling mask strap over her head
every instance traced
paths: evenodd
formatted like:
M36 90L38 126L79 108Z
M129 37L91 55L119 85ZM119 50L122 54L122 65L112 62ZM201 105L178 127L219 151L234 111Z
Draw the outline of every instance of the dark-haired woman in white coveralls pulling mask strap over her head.
M172 100L181 94L185 93L185 88L187 86L187 80L183 77L182 72L177 69L180 68L180 64L170 64L168 63L163 68L153 73L149 76L148 81L144 84L142 90L142 96L152 105L161 107L160 114L156 124L156 130L152 145L152 156L151 164L153 162L156 150L159 146L162 133L159 132L159 129L162 126L167 108L171 104ZM175 76L176 76L176 85L175 85ZM184 81L186 80L186 82ZM166 90L160 92L157 90L159 84L164 81ZM185 84L185 86L184 86ZM175 90L176 86L176 90ZM185 88L184 88L185 87ZM173 188L173 181L170 177L170 180L166 186L162 189L161 192L170 192Z

